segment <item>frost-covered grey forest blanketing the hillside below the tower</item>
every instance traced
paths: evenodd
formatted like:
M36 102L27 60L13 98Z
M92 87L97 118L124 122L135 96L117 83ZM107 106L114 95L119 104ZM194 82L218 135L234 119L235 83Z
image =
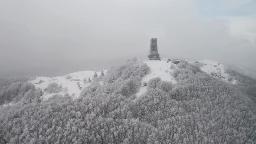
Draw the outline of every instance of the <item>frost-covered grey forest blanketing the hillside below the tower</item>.
M0 144L255 144L256 80L229 70L233 85L181 60L170 75L148 82L138 59L113 66L83 88L80 97L54 95L29 78L1 79ZM26 101L21 102L18 101Z

